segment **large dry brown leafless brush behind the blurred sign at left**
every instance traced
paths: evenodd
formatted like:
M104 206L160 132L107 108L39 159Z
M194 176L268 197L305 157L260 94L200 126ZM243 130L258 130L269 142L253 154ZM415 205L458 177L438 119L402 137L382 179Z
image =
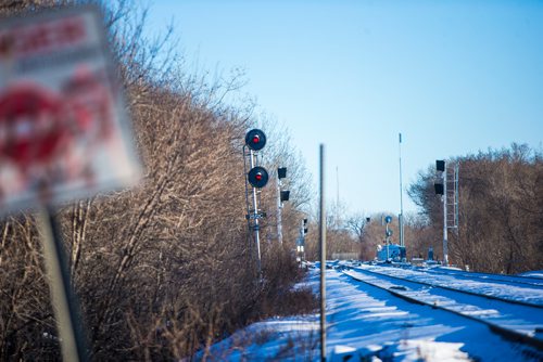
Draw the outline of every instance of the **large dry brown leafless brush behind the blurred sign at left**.
M13 3L15 10L40 7ZM156 65L156 54L168 52L167 34L146 40L146 13L131 5L121 1L104 12L143 181L74 202L56 216L97 361L192 355L251 321L313 308L311 293L290 292L300 277L293 241L277 245L273 218L263 223L263 282L255 279L241 152L254 119L250 105L223 102L242 81L207 86L184 74L175 54ZM13 13L11 7L0 5L0 13ZM290 159L292 170L302 167L288 150L269 150L269 165ZM273 192L263 190L268 215ZM306 203L293 201L286 220ZM286 235L296 232L293 225L286 222ZM27 214L0 227L0 359L59 359L35 221Z

